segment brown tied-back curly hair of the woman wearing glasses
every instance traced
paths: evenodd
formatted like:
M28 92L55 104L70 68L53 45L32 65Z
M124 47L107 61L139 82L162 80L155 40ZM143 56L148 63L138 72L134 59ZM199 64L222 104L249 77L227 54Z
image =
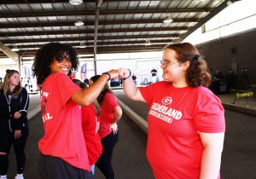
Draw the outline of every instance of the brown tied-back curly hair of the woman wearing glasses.
M209 86L211 75L207 68L207 62L199 55L198 50L191 43L174 43L166 46L166 49L173 49L176 52L176 59L180 63L189 61L189 68L186 72L186 81L191 87Z

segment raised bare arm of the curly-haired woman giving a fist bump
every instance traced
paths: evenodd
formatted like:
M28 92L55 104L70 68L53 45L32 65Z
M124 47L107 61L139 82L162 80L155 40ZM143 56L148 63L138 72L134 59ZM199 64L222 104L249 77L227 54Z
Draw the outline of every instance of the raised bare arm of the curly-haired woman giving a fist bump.
M119 71L111 70L108 72L111 78L118 78ZM71 100L80 106L88 106L96 100L97 96L100 95L104 85L108 82L108 75L102 75L101 78L87 89L76 91L72 96Z

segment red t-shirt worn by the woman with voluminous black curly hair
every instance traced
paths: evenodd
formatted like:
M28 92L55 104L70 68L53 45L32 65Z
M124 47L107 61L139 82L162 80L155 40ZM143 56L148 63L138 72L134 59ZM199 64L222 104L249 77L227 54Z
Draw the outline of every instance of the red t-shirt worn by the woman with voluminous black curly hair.
M74 167L90 171L81 110L69 101L77 90L79 87L64 73L51 74L44 80L41 93L44 136L38 146L45 155L61 158Z

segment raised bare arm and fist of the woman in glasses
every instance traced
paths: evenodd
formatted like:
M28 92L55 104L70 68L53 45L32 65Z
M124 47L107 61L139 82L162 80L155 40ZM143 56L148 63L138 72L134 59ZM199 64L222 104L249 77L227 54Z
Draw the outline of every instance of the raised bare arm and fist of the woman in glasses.
M123 89L124 89L125 95L129 97L131 100L146 102L140 90L137 89L131 76L129 77L129 75L131 75L131 73L128 69L126 68L119 69L119 76L121 78L126 78L125 80L123 80Z

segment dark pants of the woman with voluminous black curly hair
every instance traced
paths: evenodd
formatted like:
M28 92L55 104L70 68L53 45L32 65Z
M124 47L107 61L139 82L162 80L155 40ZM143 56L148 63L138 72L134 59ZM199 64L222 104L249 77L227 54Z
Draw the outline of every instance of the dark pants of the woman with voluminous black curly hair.
M66 161L40 153L38 161L42 179L94 179L91 172L82 170Z

